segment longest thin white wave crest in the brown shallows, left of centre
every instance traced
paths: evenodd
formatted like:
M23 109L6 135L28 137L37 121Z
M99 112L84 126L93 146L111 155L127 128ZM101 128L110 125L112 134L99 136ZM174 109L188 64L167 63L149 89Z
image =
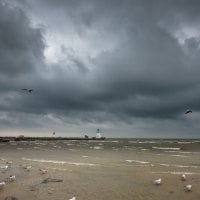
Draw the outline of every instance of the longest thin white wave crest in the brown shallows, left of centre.
M67 161L60 161L60 160L44 160L44 159L30 159L30 158L22 158L22 160L33 161L33 162L41 162L41 163L53 163L53 164L69 164L69 165L76 165L76 166L98 166L99 164L93 163L78 163L78 162L67 162Z

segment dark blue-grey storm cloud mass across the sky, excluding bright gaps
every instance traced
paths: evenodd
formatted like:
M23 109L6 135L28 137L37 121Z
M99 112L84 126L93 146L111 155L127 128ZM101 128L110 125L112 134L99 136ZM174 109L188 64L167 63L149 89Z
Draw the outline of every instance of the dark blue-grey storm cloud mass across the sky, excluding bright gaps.
M189 35L180 44L176 33L191 26L200 30L199 9L195 0L42 0L26 1L21 9L0 4L0 109L127 123L175 120L188 107L198 111L200 38ZM44 18L45 31L51 25L63 40L70 33L92 44L96 55L87 48L89 56L69 53L61 44L65 58L45 62L45 31L31 27L34 17L26 12ZM6 79L14 75L19 78ZM5 92L23 84L34 92Z

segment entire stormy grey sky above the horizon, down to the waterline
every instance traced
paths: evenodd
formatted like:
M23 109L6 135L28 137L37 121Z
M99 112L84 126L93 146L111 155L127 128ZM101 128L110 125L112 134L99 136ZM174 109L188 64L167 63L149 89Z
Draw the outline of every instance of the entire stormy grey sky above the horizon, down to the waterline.
M199 138L199 10L0 0L0 135Z

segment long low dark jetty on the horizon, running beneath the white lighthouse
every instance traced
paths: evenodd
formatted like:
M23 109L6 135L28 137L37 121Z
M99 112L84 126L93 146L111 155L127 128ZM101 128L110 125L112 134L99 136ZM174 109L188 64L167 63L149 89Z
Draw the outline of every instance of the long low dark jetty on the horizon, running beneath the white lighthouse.
M18 137L0 137L0 142L10 142L10 141L35 141L35 140L105 140L105 137L26 137L26 136L18 136Z

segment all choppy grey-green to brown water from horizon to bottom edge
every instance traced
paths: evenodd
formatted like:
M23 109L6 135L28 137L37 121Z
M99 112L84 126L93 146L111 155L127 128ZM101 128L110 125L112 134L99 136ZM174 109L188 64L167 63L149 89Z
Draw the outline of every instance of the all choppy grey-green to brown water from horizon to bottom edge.
M16 180L9 181L10 175ZM158 178L161 185L154 184ZM200 140L0 143L2 181L0 200L195 200L200 198Z

